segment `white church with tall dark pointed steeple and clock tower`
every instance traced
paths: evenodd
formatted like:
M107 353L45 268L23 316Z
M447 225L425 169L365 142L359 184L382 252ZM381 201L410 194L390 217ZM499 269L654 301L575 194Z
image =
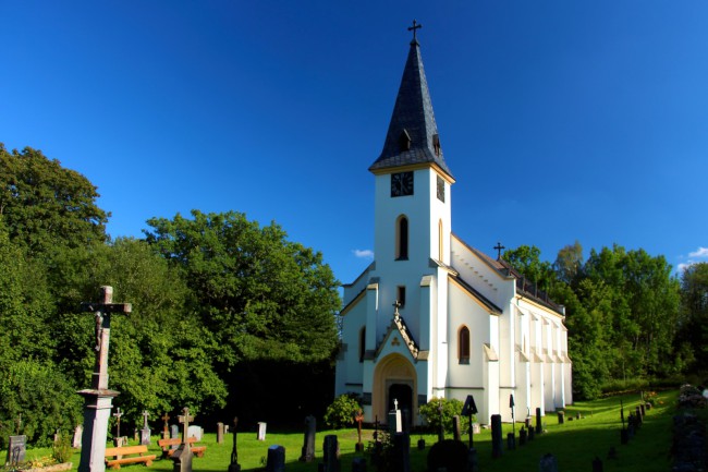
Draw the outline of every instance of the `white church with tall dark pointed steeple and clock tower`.
M501 257L452 232L443 158L415 37L375 180L375 261L344 286L335 395L361 396L366 422L432 398L474 397L477 421L572 403L564 307ZM497 247L501 251L501 246Z

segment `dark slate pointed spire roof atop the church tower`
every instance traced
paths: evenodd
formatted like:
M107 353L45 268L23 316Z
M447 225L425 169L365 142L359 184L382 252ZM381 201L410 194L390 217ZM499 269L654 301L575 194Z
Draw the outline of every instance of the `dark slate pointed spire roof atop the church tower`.
M410 148L405 149L403 146L402 149L401 141L407 137L410 137ZM436 164L452 178L439 145L438 126L435 122L432 102L420 58L420 45L414 40L411 43L408 59L403 70L383 150L369 170L417 164Z

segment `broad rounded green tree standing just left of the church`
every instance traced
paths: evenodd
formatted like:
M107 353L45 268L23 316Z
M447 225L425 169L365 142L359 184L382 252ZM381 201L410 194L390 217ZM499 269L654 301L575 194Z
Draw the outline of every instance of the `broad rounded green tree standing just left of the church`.
M339 282L320 253L288 241L272 222L192 211L152 218L147 241L184 273L200 322L222 347L224 368L242 360L310 362L337 344Z

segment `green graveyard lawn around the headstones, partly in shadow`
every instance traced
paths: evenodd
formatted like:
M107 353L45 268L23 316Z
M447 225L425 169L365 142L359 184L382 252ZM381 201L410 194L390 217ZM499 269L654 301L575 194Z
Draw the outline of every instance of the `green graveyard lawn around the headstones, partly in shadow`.
M638 395L611 397L593 402L576 402L565 409L564 424L558 424L556 413L544 417L546 432L537 435L535 440L525 446L517 446L514 450L505 449L501 458L491 457L491 432L483 429L474 436L475 448L478 451L479 468L484 472L501 471L536 471L539 459L547 452L556 456L559 471L591 471L591 461L599 457L606 472L652 472L670 470L671 424L675 413L678 391L660 392L657 406L647 412L644 424L628 445L620 444L620 399L624 402L625 415L634 411L639 403ZM581 413L584 419L569 421L570 416ZM516 436L521 424L514 426ZM503 437L512 431L511 424L503 425ZM371 440L373 431L363 432L363 441ZM310 463L300 462L303 446L303 433L284 433L269 431L265 441L256 439L255 432L240 432L237 436L239 463L243 471L258 471L265 468L268 447L280 445L285 448L285 469L289 472L316 472L317 464L321 461L322 444L325 436L335 434L339 437L341 450L342 472L351 472L352 459L356 457L355 444L356 429L322 431L317 433L316 460ZM416 445L419 438L426 441L426 448L418 450ZM154 437L150 450L160 455L157 447L157 437ZM465 441L466 437L463 438ZM426 458L430 447L437 440L435 435L411 436L411 465L413 472L426 471ZM517 439L518 440L518 439ZM232 436L228 435L223 444L216 444L216 434L206 434L202 444L207 446L204 458L194 458L193 470L196 472L227 472L232 450ZM615 459L608 459L610 448L617 450ZM48 456L48 449L32 449L27 451L27 459ZM73 456L73 470L75 471L80 453ZM171 460L158 459L149 470L156 472L171 471ZM132 472L146 470L145 465L124 465L122 470ZM369 468L373 470L373 468Z

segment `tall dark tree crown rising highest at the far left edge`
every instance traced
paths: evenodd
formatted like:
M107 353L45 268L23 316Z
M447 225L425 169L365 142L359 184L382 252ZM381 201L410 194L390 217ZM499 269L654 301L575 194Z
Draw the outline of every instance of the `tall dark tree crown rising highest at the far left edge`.
M9 153L0 143L0 216L30 254L105 242L110 215L98 196L88 179L40 150Z

